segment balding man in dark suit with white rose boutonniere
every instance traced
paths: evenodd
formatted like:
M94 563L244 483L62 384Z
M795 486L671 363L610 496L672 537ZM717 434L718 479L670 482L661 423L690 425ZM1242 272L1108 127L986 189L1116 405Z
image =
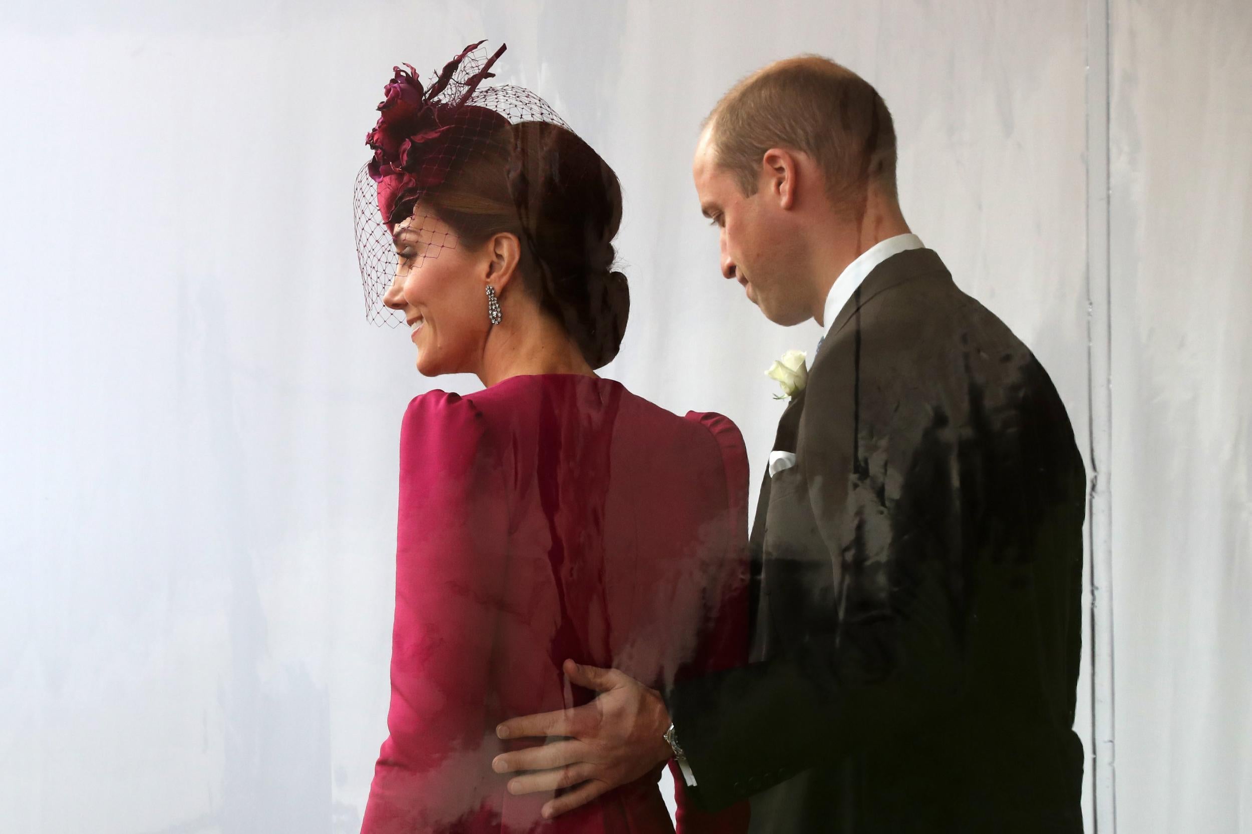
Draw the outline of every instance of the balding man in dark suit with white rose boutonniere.
M692 173L722 274L825 331L761 487L754 662L664 699L567 662L600 696L501 725L566 740L496 770L573 786L551 814L676 756L697 803L751 796L756 831L1080 831L1085 475L1048 374L909 232L854 73L745 79Z

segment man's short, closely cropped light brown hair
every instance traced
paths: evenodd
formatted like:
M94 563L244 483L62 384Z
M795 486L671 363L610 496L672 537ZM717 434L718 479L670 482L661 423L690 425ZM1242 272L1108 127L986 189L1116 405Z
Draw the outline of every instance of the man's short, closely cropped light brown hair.
M833 60L800 55L770 64L730 89L705 119L717 164L756 193L770 148L818 163L831 202L853 209L870 183L895 199L895 128L878 90Z

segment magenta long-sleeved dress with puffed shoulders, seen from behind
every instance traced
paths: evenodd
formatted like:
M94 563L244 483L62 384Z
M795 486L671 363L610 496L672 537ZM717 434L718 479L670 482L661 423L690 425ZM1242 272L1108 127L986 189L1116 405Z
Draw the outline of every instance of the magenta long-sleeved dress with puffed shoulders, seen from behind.
M654 687L747 654L747 457L720 414L611 379L523 376L414 398L401 431L389 738L364 834L672 831L647 776L546 821L491 760L506 718L585 704L561 664ZM747 805L680 831L742 831Z

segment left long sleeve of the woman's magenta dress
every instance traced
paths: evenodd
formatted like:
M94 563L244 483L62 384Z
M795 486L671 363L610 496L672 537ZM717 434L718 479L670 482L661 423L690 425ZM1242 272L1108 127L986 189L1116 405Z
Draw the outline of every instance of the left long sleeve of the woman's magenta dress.
M363 834L442 831L487 813L501 778L486 726L505 577L505 461L456 394L409 403L401 431L389 735Z

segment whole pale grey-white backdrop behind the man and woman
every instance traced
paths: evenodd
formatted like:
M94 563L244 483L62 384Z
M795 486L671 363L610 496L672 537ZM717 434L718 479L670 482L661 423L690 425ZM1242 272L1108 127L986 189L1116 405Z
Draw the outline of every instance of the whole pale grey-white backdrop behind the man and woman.
M1141 809L1127 814L1136 833L1202 830L1197 820L1236 831L1252 806L1239 758L1252 635L1238 606L1252 364L1237 327L1249 39L1237 4L1187 20L1192 40L1171 53L1189 81L1221 85L1188 101L1186 118L1211 128L1198 145L1114 68L1127 143L1114 165L1114 342L1128 354L1114 369L1144 378L1114 408L1117 579L1133 595L1117 600L1118 681L1143 692L1119 701L1136 760L1122 759L1118 790ZM386 731L399 417L429 387L477 387L417 376L406 334L364 322L349 189L393 64L427 70L480 38L506 41L497 80L545 95L615 167L634 314L606 374L675 411L736 420L755 488L781 412L762 371L811 349L818 328L770 326L719 278L689 175L700 119L737 78L801 51L874 83L901 138L905 215L1035 349L1085 452L1084 160L1088 119L1103 118L1085 106L1088 11L1085 0L0 9L4 830L357 830ZM1126 60L1167 73L1156 49L1178 35L1173 14L1118 0L1114 46L1138 44L1142 25L1156 40ZM1243 157L1196 183L1171 157L1184 142L1199 162ZM1173 205L1177 224L1153 225L1153 202ZM1196 208L1236 219L1207 224ZM1199 306L1181 270L1221 292ZM1137 293L1144 281L1154 294ZM1154 312L1174 313L1168 332ZM1179 338L1198 339L1184 368ZM1198 376L1179 382L1182 369ZM1162 399L1174 411L1141 409ZM1189 465L1201 441L1206 462L1228 466ZM1146 443L1163 455L1146 458ZM1171 561L1178 547L1187 567ZM1084 669L1088 751L1089 680ZM1148 796L1156 805L1138 803ZM1227 799L1243 816L1206 809Z

